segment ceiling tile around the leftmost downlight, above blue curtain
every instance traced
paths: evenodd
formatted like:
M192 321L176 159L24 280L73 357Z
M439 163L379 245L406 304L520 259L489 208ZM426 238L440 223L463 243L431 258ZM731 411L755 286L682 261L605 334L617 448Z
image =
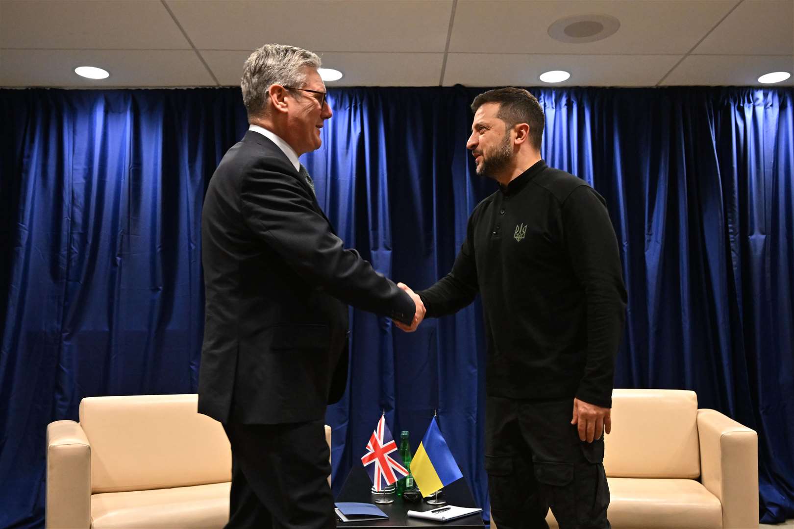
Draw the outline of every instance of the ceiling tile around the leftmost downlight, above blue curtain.
M0 86L215 86L193 51L4 49L0 62ZM102 67L110 77L84 79L75 74L78 66Z

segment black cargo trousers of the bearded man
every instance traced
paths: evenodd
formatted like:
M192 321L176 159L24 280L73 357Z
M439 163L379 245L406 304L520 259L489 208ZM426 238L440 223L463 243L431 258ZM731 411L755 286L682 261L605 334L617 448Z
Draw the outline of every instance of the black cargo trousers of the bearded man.
M573 398L520 401L486 397L485 470L499 529L611 527L603 435L582 442L570 424Z

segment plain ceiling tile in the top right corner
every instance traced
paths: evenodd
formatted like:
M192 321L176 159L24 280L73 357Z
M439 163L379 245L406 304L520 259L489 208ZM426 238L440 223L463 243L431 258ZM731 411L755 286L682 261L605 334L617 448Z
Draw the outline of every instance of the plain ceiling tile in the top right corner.
M745 0L692 53L794 55L794 2Z

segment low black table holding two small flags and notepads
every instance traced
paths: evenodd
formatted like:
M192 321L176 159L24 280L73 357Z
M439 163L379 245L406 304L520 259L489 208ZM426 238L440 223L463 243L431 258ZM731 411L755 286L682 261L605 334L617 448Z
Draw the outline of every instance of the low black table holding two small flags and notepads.
M378 496L370 493L372 489L372 481L369 480L366 470L363 466L353 464L353 470L345 481L345 486L342 487L342 492L339 493L337 501L358 501L362 503L374 504ZM432 522L428 519L409 518L408 511L432 511L434 508L444 507L443 505L428 505L425 501L418 501L411 503L403 501L403 498L393 496L395 501L393 504L376 504L381 511L385 512L388 519L366 519L358 520L356 522L337 522L337 527L468 527L469 529L477 529L485 527L483 523L483 513L476 512L463 518L453 519L449 522ZM444 499L447 505L455 505L456 507L477 507L472 498L472 491L468 489L466 480L461 479L450 483L444 487Z

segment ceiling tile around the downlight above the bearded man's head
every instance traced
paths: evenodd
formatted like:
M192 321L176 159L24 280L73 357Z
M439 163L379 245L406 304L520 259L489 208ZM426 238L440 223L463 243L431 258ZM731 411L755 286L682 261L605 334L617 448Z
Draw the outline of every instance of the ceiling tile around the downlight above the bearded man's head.
M622 55L492 55L450 53L444 85L539 86L549 70L571 74L549 86L654 86L680 56Z

